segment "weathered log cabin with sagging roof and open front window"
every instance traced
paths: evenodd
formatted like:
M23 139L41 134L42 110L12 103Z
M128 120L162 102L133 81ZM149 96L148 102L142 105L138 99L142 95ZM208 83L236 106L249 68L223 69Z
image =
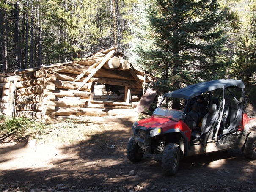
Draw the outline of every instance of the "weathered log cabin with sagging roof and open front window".
M152 77L124 60L117 48L84 60L15 71L15 115L57 123L70 115L113 115L133 109ZM0 112L7 114L10 82L6 78L0 82Z

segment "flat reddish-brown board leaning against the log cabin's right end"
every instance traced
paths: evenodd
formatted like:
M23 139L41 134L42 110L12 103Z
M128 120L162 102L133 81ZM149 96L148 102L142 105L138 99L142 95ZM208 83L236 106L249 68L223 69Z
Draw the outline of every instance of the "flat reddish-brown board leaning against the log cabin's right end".
M156 97L157 91L153 90L152 88L147 88L146 93L141 97L135 111L136 112L143 112L148 113L149 107L152 105L155 97Z

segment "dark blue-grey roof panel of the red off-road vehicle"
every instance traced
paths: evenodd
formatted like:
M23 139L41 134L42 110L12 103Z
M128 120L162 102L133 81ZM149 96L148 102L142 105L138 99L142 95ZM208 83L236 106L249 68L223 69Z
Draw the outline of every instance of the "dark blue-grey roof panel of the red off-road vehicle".
M226 88L237 86L238 88L245 88L244 83L241 80L212 80L208 82L201 82L195 85L189 85L185 88L165 93L164 97L174 97L180 99L191 99L195 96L201 95L207 91L212 91L219 88Z

